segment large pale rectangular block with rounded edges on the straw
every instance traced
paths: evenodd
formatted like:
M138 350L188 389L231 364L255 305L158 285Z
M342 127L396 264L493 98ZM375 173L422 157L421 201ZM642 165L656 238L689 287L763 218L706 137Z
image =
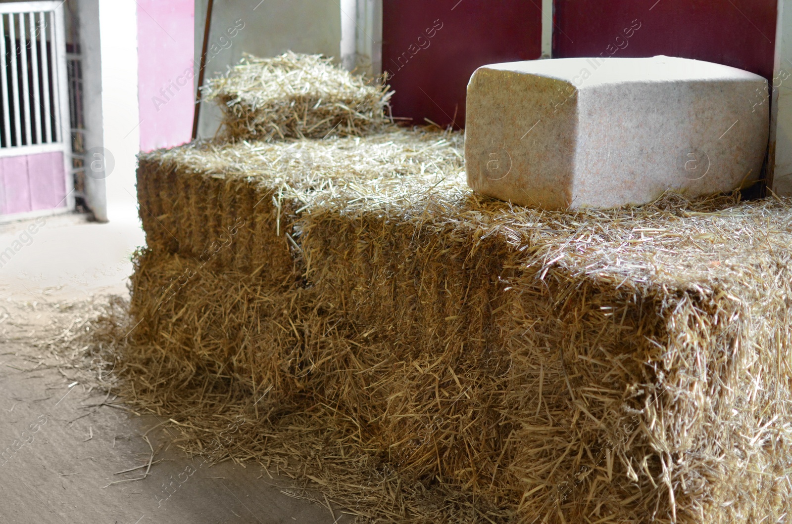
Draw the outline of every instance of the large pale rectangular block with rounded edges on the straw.
M467 183L556 210L730 191L760 176L766 89L757 74L668 56L482 66L467 85Z

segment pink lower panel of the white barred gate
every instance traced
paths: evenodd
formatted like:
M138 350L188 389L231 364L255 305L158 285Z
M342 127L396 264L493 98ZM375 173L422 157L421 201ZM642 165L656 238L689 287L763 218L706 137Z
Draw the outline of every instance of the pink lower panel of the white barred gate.
M64 206L63 153L0 158L0 215Z

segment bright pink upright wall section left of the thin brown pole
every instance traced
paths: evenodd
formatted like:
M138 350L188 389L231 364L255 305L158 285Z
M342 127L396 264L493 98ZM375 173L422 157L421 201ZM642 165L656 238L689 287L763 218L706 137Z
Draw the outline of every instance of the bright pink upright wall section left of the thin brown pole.
M137 0L140 149L189 142L195 0Z

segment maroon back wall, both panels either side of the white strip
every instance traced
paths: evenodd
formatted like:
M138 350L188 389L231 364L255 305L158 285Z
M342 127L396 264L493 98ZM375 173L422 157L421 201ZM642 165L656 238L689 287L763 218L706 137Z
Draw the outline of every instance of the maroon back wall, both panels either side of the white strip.
M476 67L539 58L541 5L383 0L394 116L463 126ZM669 55L773 75L776 0L555 0L554 9L554 58ZM433 24L441 28L426 32Z

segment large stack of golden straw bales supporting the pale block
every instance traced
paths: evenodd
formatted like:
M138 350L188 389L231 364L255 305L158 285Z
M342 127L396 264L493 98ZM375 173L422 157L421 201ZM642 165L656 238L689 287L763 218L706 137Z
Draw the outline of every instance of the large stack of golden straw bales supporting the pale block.
M265 391L268 440L246 456L322 457L341 480L310 474L337 496L367 457L446 501L381 480L371 518L786 518L789 201L528 210L470 193L461 145L394 131L142 155L135 394Z

